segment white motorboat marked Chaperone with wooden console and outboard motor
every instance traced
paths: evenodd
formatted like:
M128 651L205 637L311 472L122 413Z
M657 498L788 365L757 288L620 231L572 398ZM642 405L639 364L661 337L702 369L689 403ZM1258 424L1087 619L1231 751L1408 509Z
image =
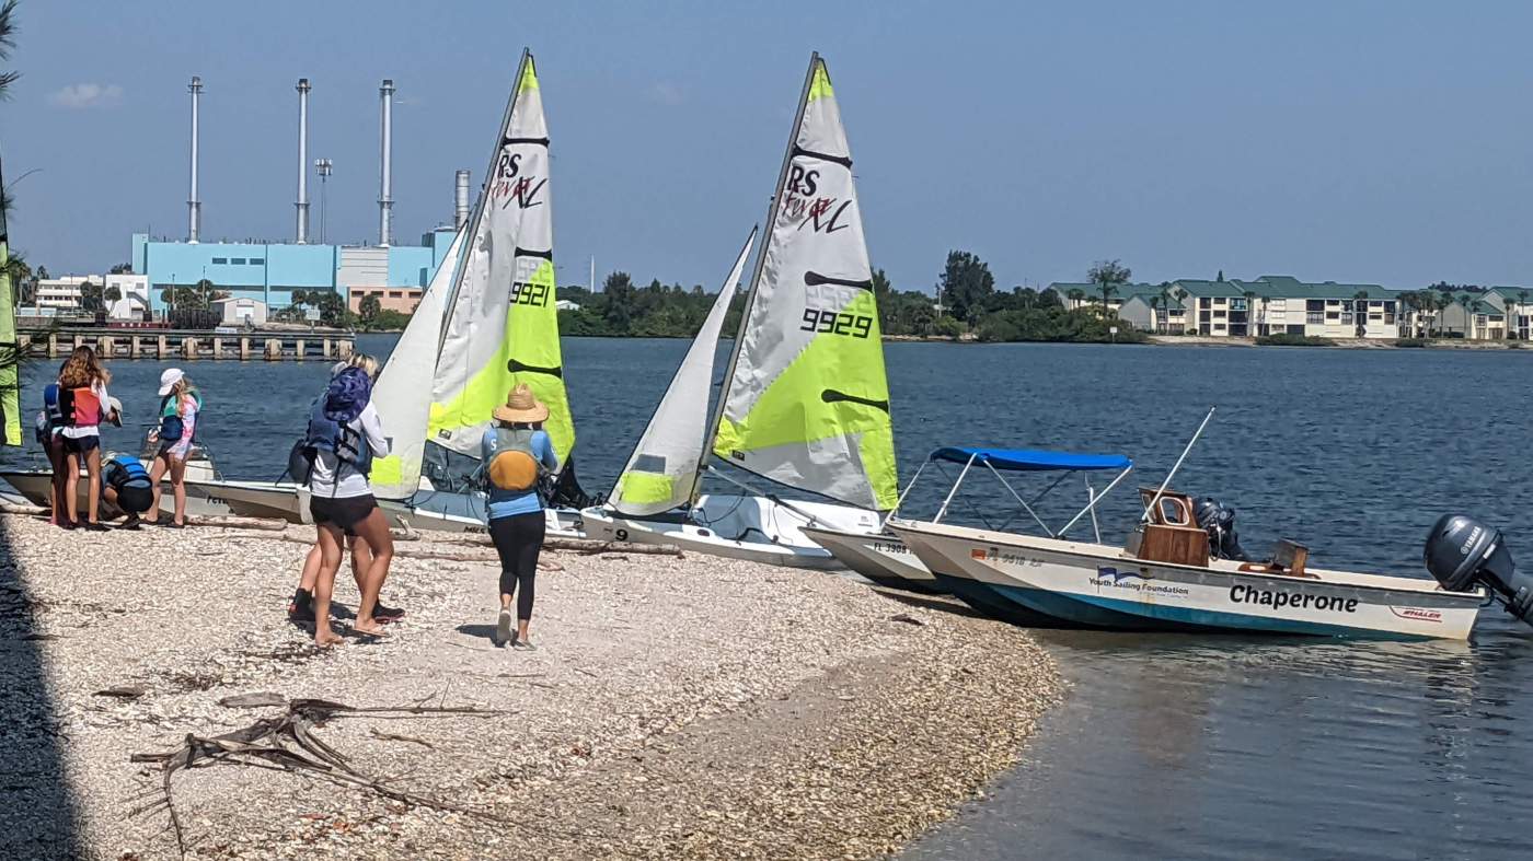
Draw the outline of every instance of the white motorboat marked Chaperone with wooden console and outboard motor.
M975 464L998 476L1010 469L1006 452L967 452L947 503ZM1466 639L1493 601L1533 620L1533 578L1515 571L1499 532L1470 518L1433 525L1427 579L1311 565L1309 548L1288 539L1251 561L1216 501L1165 484L1142 487L1141 501L1144 518L1122 547L1072 541L1065 529L1033 536L941 522L947 503L932 521L894 518L888 527L938 582L1069 625Z

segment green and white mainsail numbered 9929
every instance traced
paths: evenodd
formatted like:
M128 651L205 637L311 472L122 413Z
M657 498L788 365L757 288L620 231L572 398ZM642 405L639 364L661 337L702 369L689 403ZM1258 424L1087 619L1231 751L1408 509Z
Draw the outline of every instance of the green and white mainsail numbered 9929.
M851 165L814 55L713 450L773 481L889 510L889 385Z

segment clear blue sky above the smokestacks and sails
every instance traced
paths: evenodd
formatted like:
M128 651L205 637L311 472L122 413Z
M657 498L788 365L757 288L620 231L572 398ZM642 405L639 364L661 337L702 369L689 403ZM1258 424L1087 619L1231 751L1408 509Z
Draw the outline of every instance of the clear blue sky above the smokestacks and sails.
M560 282L714 290L765 219L811 51L846 123L874 267L949 250L1000 288L1291 274L1533 285L1527 3L23 0L0 103L12 247L54 274L185 236L293 236L297 93L334 161L328 239L376 241L379 83L394 231L481 181L523 46L552 138ZM311 178L313 231L319 188Z

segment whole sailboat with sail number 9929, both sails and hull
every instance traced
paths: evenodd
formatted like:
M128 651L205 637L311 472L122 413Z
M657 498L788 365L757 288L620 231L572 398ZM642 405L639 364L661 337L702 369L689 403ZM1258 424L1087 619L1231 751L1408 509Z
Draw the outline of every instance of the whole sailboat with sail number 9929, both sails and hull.
M839 568L805 527L880 532L878 512L897 499L894 430L851 164L829 72L816 54L713 417L699 418L707 369L744 254L609 501L583 512L587 536ZM832 503L757 493L710 466L710 452ZM744 492L702 495L704 473Z

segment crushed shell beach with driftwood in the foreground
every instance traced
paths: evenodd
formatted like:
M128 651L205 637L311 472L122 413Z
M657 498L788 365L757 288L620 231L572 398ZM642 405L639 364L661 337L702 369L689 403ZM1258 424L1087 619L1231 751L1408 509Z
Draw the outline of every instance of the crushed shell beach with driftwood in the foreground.
M0 529L11 858L877 858L1062 691L1026 631L849 576L546 552L527 653L492 548L417 535L408 616L316 651L308 527Z

